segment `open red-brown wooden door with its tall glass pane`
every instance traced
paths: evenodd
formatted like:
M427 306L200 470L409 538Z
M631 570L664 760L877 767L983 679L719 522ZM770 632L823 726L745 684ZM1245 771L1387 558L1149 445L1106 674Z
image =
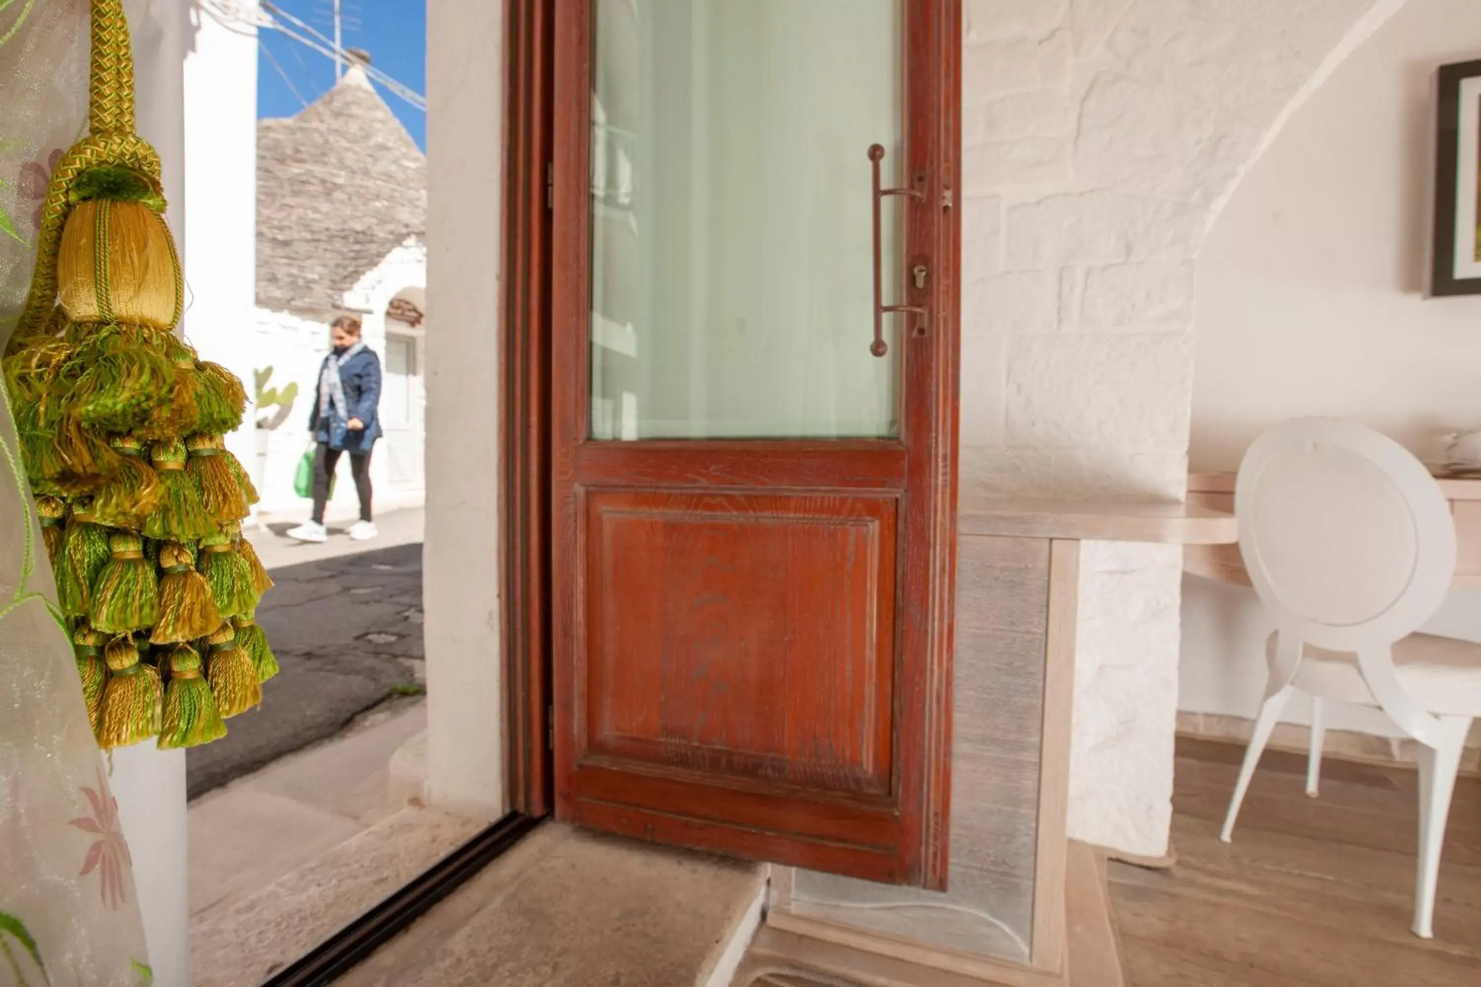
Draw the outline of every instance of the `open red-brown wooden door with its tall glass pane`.
M942 888L960 0L554 28L557 815Z

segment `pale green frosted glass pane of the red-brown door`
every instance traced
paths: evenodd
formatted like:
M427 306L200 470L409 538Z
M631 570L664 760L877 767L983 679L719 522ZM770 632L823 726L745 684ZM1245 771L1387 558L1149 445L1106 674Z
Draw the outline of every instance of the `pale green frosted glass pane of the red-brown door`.
M896 437L900 0L594 9L591 435Z

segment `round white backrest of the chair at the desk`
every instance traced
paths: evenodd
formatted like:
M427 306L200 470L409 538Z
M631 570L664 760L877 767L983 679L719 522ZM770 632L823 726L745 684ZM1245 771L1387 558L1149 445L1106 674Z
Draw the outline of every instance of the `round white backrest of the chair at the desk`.
M1456 570L1450 503L1425 465L1370 428L1294 419L1240 463L1240 552L1284 632L1382 647L1440 608Z

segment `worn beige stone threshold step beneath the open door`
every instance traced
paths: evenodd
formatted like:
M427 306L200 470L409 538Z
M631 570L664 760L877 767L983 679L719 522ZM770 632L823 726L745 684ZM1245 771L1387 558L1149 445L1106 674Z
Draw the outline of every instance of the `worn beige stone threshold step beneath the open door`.
M347 987L724 987L767 869L546 823Z

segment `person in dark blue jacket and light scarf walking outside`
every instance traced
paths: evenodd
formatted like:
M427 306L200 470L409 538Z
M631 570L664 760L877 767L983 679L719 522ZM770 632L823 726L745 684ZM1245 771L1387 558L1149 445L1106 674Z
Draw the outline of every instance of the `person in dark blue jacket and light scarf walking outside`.
M329 481L339 457L350 453L350 474L360 497L360 519L351 525L350 537L357 542L379 534L370 512L370 451L381 438L376 405L381 402L381 358L360 339L360 320L341 315L329 329L330 352L318 370L314 404L310 408L310 432L314 450L314 516L292 531L299 542L324 542L324 506L329 503Z

